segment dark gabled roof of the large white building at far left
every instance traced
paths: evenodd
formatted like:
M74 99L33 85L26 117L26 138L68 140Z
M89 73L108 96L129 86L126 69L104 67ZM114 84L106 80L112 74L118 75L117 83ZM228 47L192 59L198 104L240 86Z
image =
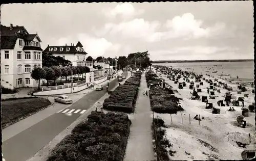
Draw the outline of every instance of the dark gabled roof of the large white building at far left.
M29 34L24 26L5 26L1 24L1 49L14 49L17 38L32 41L35 37L41 42L37 34Z

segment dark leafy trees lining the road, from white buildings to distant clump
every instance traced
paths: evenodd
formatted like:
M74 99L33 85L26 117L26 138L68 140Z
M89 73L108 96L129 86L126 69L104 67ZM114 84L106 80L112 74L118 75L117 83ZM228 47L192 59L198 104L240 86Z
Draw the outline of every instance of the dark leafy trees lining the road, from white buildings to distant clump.
M148 51L144 52L136 52L136 53L130 53L127 57L126 56L120 56L115 58L104 58L104 57L97 57L96 59L93 59L91 56L89 56L86 61L90 62L108 62L110 65L113 66L114 70L117 66L117 69L123 69L127 65L129 65L131 68L140 68L144 69L147 67L152 66L152 61L149 58L150 53ZM117 60L117 61L116 61ZM94 68L98 68L96 66L93 66ZM72 63L69 60L65 60L62 57L55 57L52 55L52 53L42 53L42 68L37 67L34 68L31 72L31 77L37 81L40 82L41 79L47 80L47 86L49 85L49 80L54 79L54 84L56 83L56 79L60 77L60 83L61 78L70 76L71 77L71 71L76 77L76 74L78 74L78 77L80 74L90 72L90 68L87 66L72 66ZM38 89L40 89L40 84L38 84Z

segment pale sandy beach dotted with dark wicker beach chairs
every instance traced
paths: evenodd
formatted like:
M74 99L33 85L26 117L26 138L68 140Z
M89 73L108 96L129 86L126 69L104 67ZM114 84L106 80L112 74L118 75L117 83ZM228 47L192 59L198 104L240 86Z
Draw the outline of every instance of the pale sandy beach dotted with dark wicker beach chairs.
M173 90L177 90L178 93L175 95L183 100L180 101L184 112L178 112L177 115L172 115L172 122L170 120L169 114L157 114L162 118L167 125L166 128L166 138L170 140L170 143L173 144L171 147L172 150L176 151L174 156L169 156L172 160L209 160L209 159L242 159L241 152L250 149L255 149L255 113L249 113L248 117L245 117L247 126L241 128L237 126L237 117L242 115L242 102L240 106L232 106L236 111L229 112L229 106L219 106L217 101L225 99L225 93L228 90L225 90L221 87L220 93L215 91L216 99L209 99L208 102L212 103L215 108L221 110L220 114L212 114L212 109L205 109L206 103L202 100L191 100L189 99L192 95L190 92L193 90L189 89L189 83L186 83L186 87L179 89L179 84L174 84L174 81L170 81L167 78L167 75L159 74L155 69L153 70L157 73L160 78L163 78L167 84L173 87ZM214 79L207 75L203 75L205 79ZM194 81L195 78L189 78L190 82ZM248 109L248 105L254 102L254 94L251 90L253 88L246 87L247 91L238 94L238 88L236 84L230 83L228 80L225 81L220 79L229 87L232 87L232 100L238 99L238 97L244 97L244 94L248 94L248 97L244 98L244 107ZM179 82L184 82L183 78L179 79ZM202 96L209 97L207 94L207 87L209 84L203 81L203 85L200 86L202 89L201 93L198 93L200 98ZM195 83L196 85L199 83ZM196 88L197 89L197 88ZM212 91L212 90L210 90ZM232 101L231 100L231 101ZM181 116L182 115L182 116ZM190 124L189 124L189 115L190 115ZM203 118L200 121L193 119L195 115L200 115L200 118ZM250 139L249 139L250 133ZM244 148L239 147L236 142L241 142L248 144Z

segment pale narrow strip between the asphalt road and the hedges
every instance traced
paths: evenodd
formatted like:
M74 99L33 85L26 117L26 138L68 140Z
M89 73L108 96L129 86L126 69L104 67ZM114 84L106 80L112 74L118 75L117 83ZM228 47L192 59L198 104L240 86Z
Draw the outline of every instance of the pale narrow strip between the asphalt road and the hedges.
M125 81L129 78L130 76L127 75ZM113 79L114 80L114 79ZM118 87L119 85L115 86L111 90L114 90ZM99 100L105 100L105 98L108 98L110 95L108 93L105 93ZM57 136L54 137L52 141L50 141L48 144L46 144L42 149L40 149L36 154L31 156L27 161L45 161L48 156L51 154L52 149L55 148L55 146L61 142L63 138L65 138L67 135L71 134L71 131L74 129L76 125L78 125L81 121L86 119L92 111L95 110L95 104L98 102L96 101L90 109L88 109L85 113L83 113L81 116L79 116L72 124L70 124L68 127L66 127L63 131L61 131Z

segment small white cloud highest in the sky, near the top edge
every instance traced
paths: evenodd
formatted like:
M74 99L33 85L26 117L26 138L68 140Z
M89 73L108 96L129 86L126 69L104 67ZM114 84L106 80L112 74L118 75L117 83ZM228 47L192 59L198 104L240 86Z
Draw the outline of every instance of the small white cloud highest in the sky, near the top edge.
M135 9L130 3L123 3L117 5L115 8L108 8L102 10L106 17L114 19L116 16L120 15L122 18L130 18L139 14L144 13L144 10Z

